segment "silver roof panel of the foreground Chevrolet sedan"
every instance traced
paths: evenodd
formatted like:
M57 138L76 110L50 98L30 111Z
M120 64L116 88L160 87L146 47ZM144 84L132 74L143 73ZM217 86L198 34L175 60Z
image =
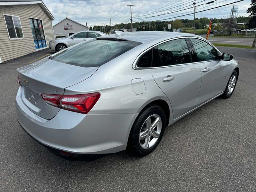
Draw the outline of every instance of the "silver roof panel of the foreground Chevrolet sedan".
M110 34L101 38L119 38L125 40L131 40L141 43L168 40L176 37L200 37L194 34L180 33L180 32L166 32L166 31L141 31L141 32L126 32L121 35ZM201 38L201 37L200 37Z

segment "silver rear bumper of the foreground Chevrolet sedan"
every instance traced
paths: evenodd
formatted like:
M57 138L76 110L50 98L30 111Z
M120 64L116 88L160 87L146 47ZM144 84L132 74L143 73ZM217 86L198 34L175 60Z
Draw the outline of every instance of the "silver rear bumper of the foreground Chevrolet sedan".
M126 149L132 124L138 114L80 114L60 110L50 119L30 111L16 96L17 120L38 142L76 154L106 154Z

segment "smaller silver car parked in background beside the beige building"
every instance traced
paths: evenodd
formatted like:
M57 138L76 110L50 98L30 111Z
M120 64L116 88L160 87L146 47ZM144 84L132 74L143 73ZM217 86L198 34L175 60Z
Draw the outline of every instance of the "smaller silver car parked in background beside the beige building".
M52 51L61 51L72 45L104 35L107 34L100 31L79 31L68 37L51 40L49 42L49 49Z

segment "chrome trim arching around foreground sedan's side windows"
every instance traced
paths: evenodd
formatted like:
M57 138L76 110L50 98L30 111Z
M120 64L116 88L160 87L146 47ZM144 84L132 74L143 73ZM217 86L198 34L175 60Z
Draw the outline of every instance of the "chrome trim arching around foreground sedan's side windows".
M141 53L137 56L137 58L135 59L135 61L134 61L133 64L132 64L132 68L135 69L135 70L138 70L138 69L139 69L139 70L141 70L141 69L153 69L153 68L166 68L166 67L172 67L172 66L182 66L182 65L189 65L189 64L198 64L198 63L203 63L203 62L205 63L205 62L218 61L218 59L216 59L216 60L210 60L210 61L199 61L199 62L191 62L191 63L176 64L176 65L169 65L169 66L160 66L160 67L138 67L138 66L137 66L137 63L138 63L138 60L139 60L140 56L142 56L142 55L143 55L144 53L146 53L148 50L150 50L150 49L154 48L155 46L158 46L158 45L160 45L160 44L162 44L162 43L165 43L165 42L168 42L168 41L171 41L171 40L182 39L182 38L184 38L184 39L185 39L185 38L200 39L200 40L206 42L207 44L209 44L210 46L212 46L214 49L216 49L216 50L218 51L218 53L219 53L220 55L222 55L222 53L221 53L212 43L210 43L210 42L207 41L207 40L204 40L204 38L194 37L194 36L182 36L182 37L176 37L176 38L171 38L171 39L164 40L164 41L159 42L159 43L157 43L157 44L154 44L154 45L151 46L150 48L144 50L143 52L141 52Z

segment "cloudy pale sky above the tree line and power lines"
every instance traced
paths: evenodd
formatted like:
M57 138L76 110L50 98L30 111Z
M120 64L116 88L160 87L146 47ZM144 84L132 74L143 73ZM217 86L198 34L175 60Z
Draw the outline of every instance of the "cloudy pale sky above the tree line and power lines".
M212 0L43 0L50 12L53 14L56 24L60 20L68 17L82 24L89 23L94 25L110 25L112 18L112 26L121 22L130 22L130 7L132 6L133 22L136 21L154 21L154 20L175 20L174 17L184 19L193 19L194 15L186 15L194 12L192 2L196 2L197 11L208 8L221 6L238 0L215 0L212 4L206 4ZM248 16L246 10L250 6L251 0L244 0L235 3L238 8L238 16ZM230 14L232 5L200 12L196 17L215 17L226 18ZM164 14L156 16L159 14ZM155 16L155 17L152 17ZM168 19L170 18L170 19Z

